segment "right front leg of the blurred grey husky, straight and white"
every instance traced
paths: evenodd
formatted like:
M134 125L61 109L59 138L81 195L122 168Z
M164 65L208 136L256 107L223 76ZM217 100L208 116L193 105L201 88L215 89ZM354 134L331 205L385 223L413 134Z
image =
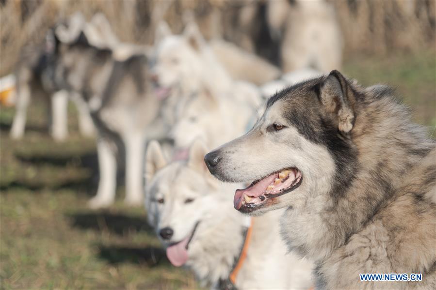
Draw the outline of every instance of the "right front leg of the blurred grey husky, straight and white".
M129 205L142 205L143 200L143 154L145 136L143 132L130 132L124 137L126 145L126 198Z

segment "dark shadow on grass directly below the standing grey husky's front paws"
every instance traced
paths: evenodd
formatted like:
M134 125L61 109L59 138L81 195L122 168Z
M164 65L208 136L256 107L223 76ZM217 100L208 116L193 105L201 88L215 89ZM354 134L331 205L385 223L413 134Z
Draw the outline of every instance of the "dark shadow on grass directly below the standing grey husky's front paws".
M154 234L153 229L147 224L146 217L108 212L75 213L68 214L67 217L71 220L71 226L79 229L106 231L120 236L140 231Z

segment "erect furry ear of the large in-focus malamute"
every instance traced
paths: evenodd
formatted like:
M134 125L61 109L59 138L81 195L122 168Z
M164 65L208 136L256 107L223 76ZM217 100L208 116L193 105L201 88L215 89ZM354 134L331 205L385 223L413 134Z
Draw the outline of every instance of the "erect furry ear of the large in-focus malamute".
M320 98L326 111L337 120L339 131L350 132L355 121L355 96L348 80L337 70L332 71L320 86Z

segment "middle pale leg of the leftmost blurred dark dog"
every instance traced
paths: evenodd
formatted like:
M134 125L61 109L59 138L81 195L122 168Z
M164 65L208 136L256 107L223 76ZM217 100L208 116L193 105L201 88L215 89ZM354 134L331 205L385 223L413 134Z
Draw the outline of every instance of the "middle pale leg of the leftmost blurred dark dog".
M50 133L56 141L64 141L68 136L68 92L61 90L51 97L52 123Z

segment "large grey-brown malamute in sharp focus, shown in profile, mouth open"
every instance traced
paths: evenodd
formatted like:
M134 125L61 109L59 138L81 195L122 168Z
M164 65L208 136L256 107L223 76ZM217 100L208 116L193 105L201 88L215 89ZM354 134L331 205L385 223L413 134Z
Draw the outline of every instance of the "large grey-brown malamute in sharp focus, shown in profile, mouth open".
M315 261L319 288L436 288L436 146L390 88L338 71L296 84L205 162L223 181L255 180L236 191L239 211L286 209L282 237Z

